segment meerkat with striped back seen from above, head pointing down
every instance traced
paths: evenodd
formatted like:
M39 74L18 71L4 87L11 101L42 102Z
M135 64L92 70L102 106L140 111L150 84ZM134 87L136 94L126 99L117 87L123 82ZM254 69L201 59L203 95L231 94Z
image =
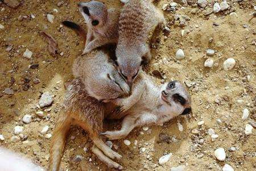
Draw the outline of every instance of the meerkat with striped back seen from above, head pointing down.
M163 13L150 0L130 0L123 6L115 54L119 73L130 86L142 64L151 59L150 48L146 43L149 33L165 22Z

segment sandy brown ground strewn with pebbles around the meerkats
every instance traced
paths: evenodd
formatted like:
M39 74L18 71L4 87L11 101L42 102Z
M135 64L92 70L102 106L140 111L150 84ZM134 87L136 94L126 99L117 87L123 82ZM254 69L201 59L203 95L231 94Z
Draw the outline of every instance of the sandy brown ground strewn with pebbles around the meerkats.
M60 5L59 2L63 3ZM50 139L40 131L48 125L48 134L52 133L64 97L64 83L73 78L72 63L83 48L80 37L60 26L60 22L67 19L85 26L77 11L77 2L32 0L23 2L18 9L11 9L0 1L0 24L5 27L0 29L0 135L5 138L0 140L0 145L23 153L45 168ZM152 77L158 84L171 79L185 82L192 97L193 112L189 116L179 116L163 127L150 126L148 131L135 129L126 137L131 141L130 146L123 144L123 140L113 141L117 148L114 150L123 156L119 163L125 170L170 170L178 165L185 165L186 170L221 170L224 164L235 170L255 170L255 129L251 135L245 135L245 126L249 122L255 123L256 119L256 19L249 22L256 1L228 2L230 9L218 14L204 15L212 9L213 1L205 10L193 5L178 5L175 12L164 12L171 32L164 35L159 31L151 41L153 60L148 73L159 70L163 74L164 80ZM164 3L170 2L161 0L157 6L161 8ZM122 6L117 0L106 1L106 5ZM233 11L237 17L229 15ZM47 21L48 13L55 16L53 23ZM31 14L35 18L31 18ZM175 22L175 14L187 15L184 27L179 27L179 21ZM183 36L181 30L184 30ZM56 39L58 53L63 52L63 56L49 54L40 31ZM13 48L6 51L9 46ZM32 59L22 56L26 48L33 52ZM175 59L179 48L185 53L183 60ZM216 51L214 56L206 55L208 48ZM222 65L229 57L236 60L236 65L225 71ZM212 68L204 67L208 58L214 60ZM31 64L39 66L30 69ZM40 80L39 84L35 84L35 78ZM14 91L13 95L4 93L8 87ZM40 95L45 91L54 95L54 102L46 109L38 109ZM244 109L248 109L250 115L242 120ZM40 118L35 114L37 111L44 111L45 116ZM32 115L31 123L22 122L25 114ZM201 120L204 124L198 126ZM183 125L182 132L177 122ZM23 135L19 135L23 138L12 142L17 125L24 127ZM105 128L114 129L117 125L118 122L109 122ZM209 128L218 135L214 141L208 135ZM199 133L195 134L196 131ZM159 135L170 136L172 140L166 143L159 139ZM137 145L134 145L135 140ZM109 170L90 152L90 147L92 143L86 132L73 128L61 166L65 170ZM220 147L225 149L225 161L214 157L214 150ZM234 151L230 147L235 147ZM159 157L167 153L172 153L171 160L159 165ZM76 155L82 155L84 160L78 164L73 162Z

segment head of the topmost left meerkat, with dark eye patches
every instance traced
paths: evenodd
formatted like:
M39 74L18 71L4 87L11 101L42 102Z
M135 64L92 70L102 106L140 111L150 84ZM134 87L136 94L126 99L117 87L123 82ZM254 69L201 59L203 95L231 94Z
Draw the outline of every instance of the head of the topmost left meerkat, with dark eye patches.
M80 2L79 11L89 27L102 27L108 17L108 9L102 2Z

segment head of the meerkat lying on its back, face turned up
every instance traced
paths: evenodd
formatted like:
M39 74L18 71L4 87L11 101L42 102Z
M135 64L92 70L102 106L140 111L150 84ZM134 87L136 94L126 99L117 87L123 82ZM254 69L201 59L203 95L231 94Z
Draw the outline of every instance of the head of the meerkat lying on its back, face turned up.
M174 116L186 115L191 111L191 98L185 87L178 81L165 84L160 95L163 105Z

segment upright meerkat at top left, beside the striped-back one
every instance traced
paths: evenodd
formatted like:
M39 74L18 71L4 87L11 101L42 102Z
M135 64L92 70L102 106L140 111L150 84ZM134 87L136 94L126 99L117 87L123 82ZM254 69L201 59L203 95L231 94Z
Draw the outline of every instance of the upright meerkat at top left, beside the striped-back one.
M80 2L78 6L87 25L82 55L102 45L117 43L119 10L107 9L104 3L98 1Z

